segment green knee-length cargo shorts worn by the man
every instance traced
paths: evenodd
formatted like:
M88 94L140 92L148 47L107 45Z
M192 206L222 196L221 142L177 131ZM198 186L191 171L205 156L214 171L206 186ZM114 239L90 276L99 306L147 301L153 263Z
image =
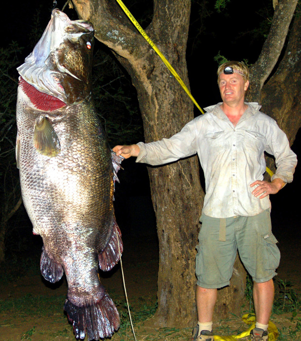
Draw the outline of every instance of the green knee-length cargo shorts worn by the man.
M253 281L263 283L277 274L280 251L269 210L253 217L226 219L203 214L200 221L195 260L198 286L216 289L229 285L237 250Z

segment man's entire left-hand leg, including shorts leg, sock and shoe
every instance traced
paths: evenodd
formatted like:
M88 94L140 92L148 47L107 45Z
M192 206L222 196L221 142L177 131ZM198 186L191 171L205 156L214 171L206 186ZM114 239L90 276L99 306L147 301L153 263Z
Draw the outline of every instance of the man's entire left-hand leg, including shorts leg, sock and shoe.
M202 214L201 222L195 258L198 324L193 331L193 341L213 341L212 318L217 298L216 288L230 284L236 257L235 219L218 219Z

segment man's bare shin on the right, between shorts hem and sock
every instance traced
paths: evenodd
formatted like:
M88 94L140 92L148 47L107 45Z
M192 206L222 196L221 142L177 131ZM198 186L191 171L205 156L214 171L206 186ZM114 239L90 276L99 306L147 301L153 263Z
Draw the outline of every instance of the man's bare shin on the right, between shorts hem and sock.
M260 324L268 324L274 301L273 279L263 283L254 282L253 300L256 322Z

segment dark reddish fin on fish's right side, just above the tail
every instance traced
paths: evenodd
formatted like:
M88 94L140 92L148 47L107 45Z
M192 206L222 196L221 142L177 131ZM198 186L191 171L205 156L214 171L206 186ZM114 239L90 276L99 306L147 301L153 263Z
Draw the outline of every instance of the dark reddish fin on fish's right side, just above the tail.
M114 220L111 238L109 239L105 249L98 255L98 262L101 270L111 270L119 262L123 250L121 231L117 222Z

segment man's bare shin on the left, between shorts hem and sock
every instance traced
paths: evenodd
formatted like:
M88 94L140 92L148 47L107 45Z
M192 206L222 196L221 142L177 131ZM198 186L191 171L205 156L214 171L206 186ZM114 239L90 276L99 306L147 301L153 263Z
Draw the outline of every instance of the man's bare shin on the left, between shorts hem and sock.
M217 289L205 289L196 286L196 309L200 323L212 322Z

